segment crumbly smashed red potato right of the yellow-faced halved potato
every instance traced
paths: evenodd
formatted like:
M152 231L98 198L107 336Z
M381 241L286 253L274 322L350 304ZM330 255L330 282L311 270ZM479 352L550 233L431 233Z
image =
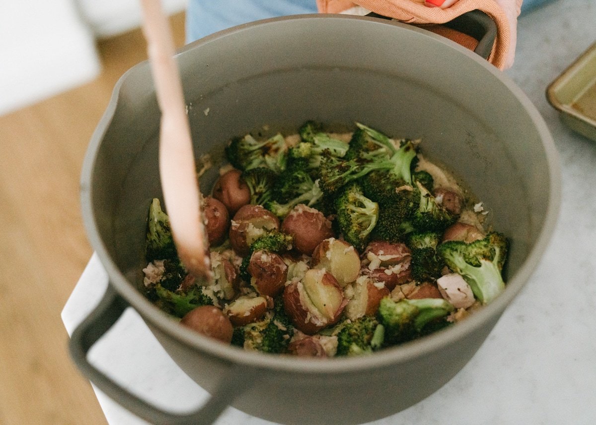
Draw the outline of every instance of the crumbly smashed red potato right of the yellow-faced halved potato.
M362 274L383 282L391 291L411 280L411 260L411 251L405 244L374 241L362 254Z

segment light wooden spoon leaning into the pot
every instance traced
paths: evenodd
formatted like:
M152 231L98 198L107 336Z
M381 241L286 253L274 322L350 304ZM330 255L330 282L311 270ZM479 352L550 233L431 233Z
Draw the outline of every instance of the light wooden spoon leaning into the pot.
M141 0L142 30L162 111L159 135L159 171L172 236L180 260L189 273L209 279L201 194L193 154L193 140L169 22L160 0Z

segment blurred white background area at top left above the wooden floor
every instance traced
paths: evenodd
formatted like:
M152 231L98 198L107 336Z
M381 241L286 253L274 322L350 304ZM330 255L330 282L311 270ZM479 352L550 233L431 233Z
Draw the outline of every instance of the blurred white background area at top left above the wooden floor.
M169 14L186 0L162 0ZM139 0L2 0L0 115L94 79L95 41L141 23Z

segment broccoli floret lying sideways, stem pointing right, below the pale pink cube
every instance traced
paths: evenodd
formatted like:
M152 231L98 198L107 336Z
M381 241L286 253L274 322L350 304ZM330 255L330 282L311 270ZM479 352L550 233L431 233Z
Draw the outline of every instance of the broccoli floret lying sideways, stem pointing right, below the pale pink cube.
M428 326L433 326L434 321L444 321L453 310L453 305L442 298L395 302L386 296L381 299L377 317L385 328L386 345L396 345L426 335Z

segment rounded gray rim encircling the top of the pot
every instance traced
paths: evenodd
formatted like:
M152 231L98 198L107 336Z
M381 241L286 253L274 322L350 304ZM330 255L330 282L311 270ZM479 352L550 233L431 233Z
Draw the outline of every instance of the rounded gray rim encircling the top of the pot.
M411 358L423 356L429 352L436 351L452 342L462 339L470 332L479 329L491 320L498 320L502 312L508 304L513 301L517 293L522 289L531 274L538 265L542 254L550 242L554 227L557 223L558 211L561 201L561 170L558 161L558 153L555 148L554 141L545 124L541 114L536 110L536 107L530 102L523 91L517 87L513 80L507 75L503 74L493 65L485 60L482 60L476 54L473 54L468 49L463 48L451 40L445 39L441 36L435 35L423 29L412 27L407 24L402 24L396 21L380 20L378 18L361 17L355 15L291 15L287 17L269 18L265 20L254 21L252 23L242 24L237 27L223 30L206 38L197 40L184 48L180 49L176 57L183 55L188 51L199 48L201 45L213 42L218 38L224 37L234 32L240 32L250 27L257 27L266 25L270 22L282 20L305 20L305 19L343 19L343 20L370 20L377 24L392 25L401 27L402 30L411 30L423 33L425 36L432 38L438 42L444 43L448 47L457 50L458 54L467 55L473 58L474 61L482 65L485 70L492 74L503 83L513 96L523 105L524 110L529 114L530 119L535 124L539 135L541 136L542 146L547 157L549 165L550 178L550 194L548 198L547 213L545 215L544 225L539 231L536 242L533 248L527 255L526 260L520 266L519 270L511 277L507 283L505 291L498 296L491 304L482 307L479 311L471 314L466 320L457 324L457 326L449 327L433 333L432 335L422 337L412 342L404 343L403 345L392 348L383 349L375 352L373 355L350 358L330 358L318 361L312 358L300 358L290 355L271 355L260 352L250 352L244 349L227 346L221 342L198 335L193 330L180 326L176 321L171 320L159 308L151 304L135 287L129 282L122 272L116 267L113 260L111 260L108 250L104 245L99 235L97 225L95 223L95 214L92 208L92 171L94 169L95 158L97 157L98 148L105 133L107 132L108 124L114 116L116 105L119 101L120 88L125 82L128 75L137 67L147 66L148 62L141 62L130 70L126 71L116 83L112 97L104 112L103 117L98 123L95 132L92 135L91 142L85 160L83 161L82 174L80 180L80 198L82 204L83 223L86 227L89 240L92 247L97 252L105 270L110 277L110 285L129 302L141 317L151 326L156 327L161 332L173 337L181 343L195 349L197 354L210 355L211 357L219 358L223 361L228 361L232 364L241 364L252 368L266 368L269 370L284 371L287 373L311 373L311 374L342 374L353 373L354 371L366 371L378 367L386 367L398 362L406 361Z

